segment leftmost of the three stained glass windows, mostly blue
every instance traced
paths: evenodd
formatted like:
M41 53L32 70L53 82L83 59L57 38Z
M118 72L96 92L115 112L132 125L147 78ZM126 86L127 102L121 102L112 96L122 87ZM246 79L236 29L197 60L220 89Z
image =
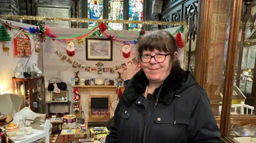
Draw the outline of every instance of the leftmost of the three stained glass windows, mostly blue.
M88 18L103 19L103 0L88 0ZM95 26L95 22L89 22L88 28Z

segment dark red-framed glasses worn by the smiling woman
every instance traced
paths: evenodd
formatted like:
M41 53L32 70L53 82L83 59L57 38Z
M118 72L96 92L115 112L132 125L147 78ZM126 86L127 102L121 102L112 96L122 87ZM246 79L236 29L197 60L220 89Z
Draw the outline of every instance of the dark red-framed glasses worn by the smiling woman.
M170 55L170 53L169 54L156 54L154 56L145 54L145 55L140 56L140 60L143 63L149 63L151 61L151 59L154 58L157 63L162 63L162 62L164 62L166 56L168 56L168 55Z

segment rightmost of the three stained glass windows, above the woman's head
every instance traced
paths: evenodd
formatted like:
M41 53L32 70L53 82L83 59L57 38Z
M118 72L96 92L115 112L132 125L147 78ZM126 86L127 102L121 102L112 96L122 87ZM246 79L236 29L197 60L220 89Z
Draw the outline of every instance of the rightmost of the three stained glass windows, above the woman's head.
M129 0L129 20L142 21L143 0ZM129 24L129 30L140 30L141 24Z

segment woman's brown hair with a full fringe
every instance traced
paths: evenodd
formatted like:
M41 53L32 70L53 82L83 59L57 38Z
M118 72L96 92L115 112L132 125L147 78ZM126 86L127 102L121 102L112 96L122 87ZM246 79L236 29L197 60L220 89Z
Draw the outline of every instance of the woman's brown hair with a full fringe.
M153 32L145 33L138 39L137 45L137 64L140 62L140 56L143 51L153 52L157 49L160 52L170 53L171 61L175 60L175 52L178 52L178 46L171 33L164 30L156 30ZM175 65L179 65L178 60L174 61Z

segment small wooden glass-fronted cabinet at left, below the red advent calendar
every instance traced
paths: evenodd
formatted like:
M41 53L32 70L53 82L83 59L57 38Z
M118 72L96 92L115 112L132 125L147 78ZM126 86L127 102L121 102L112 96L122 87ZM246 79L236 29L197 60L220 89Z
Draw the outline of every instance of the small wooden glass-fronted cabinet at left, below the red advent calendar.
M44 77L12 78L13 94L23 98L23 107L29 107L35 113L45 113Z

